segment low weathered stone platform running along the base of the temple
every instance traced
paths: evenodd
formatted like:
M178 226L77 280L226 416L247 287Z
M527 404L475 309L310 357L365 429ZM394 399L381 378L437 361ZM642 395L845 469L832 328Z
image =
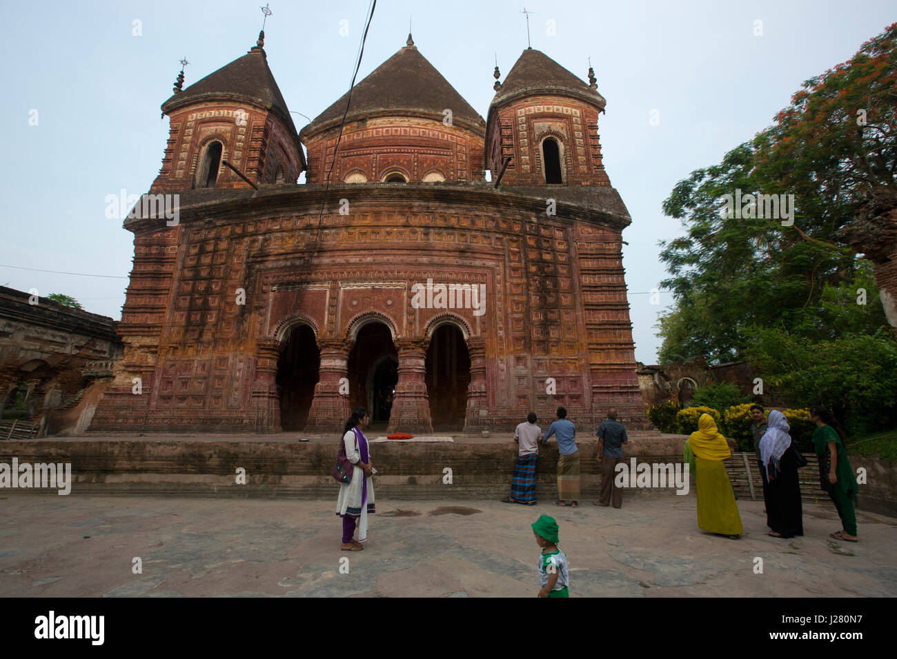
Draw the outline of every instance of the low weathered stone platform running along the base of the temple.
M640 462L681 463L684 439L632 432L627 456ZM71 463L75 495L329 499L338 489L329 475L337 441L332 435L309 438L285 433L265 438L46 438L0 442L0 463L11 463L13 457L20 464ZM582 496L594 498L600 483L597 438L586 438L578 446ZM557 444L551 440L547 447L540 447L540 453L538 496L553 498ZM455 435L451 442L375 443L370 455L378 470L377 491L384 496L409 500L496 498L509 492L517 444L508 437ZM239 468L245 470L246 484L237 484ZM26 491L2 493L12 496ZM649 490L633 491L642 496ZM673 490L659 493L671 495Z

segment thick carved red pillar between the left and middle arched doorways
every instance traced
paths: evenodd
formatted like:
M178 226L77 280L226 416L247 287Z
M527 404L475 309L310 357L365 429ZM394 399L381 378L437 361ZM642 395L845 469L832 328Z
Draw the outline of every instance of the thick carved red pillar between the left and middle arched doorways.
M338 432L343 429L349 409L349 351L348 339L321 339L318 341L321 365L318 384L311 400L309 420L305 432Z

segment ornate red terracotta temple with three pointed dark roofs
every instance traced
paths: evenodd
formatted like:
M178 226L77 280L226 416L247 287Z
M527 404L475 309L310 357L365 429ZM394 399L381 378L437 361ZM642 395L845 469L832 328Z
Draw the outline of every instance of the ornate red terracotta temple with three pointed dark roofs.
M90 430L329 433L359 405L412 433L558 405L648 428L591 69L527 49L483 120L409 35L345 119L348 94L297 133L263 39L161 106L149 198L179 217L125 221L124 355Z

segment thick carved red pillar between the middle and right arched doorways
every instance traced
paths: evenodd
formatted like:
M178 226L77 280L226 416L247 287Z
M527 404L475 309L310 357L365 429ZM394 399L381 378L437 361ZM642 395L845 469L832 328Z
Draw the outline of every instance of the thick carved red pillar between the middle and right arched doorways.
M427 341L398 339L398 382L387 431L431 433L430 399L427 397Z

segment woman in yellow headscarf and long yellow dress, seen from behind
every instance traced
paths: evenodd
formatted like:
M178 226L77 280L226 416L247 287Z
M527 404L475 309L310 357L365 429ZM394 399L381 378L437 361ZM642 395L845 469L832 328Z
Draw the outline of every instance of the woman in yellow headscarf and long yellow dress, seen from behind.
M732 490L723 464L723 460L730 457L732 452L726 438L719 434L713 417L701 414L698 431L692 432L684 450L698 495L698 525L704 531L737 540L744 528L738 515L735 490Z

